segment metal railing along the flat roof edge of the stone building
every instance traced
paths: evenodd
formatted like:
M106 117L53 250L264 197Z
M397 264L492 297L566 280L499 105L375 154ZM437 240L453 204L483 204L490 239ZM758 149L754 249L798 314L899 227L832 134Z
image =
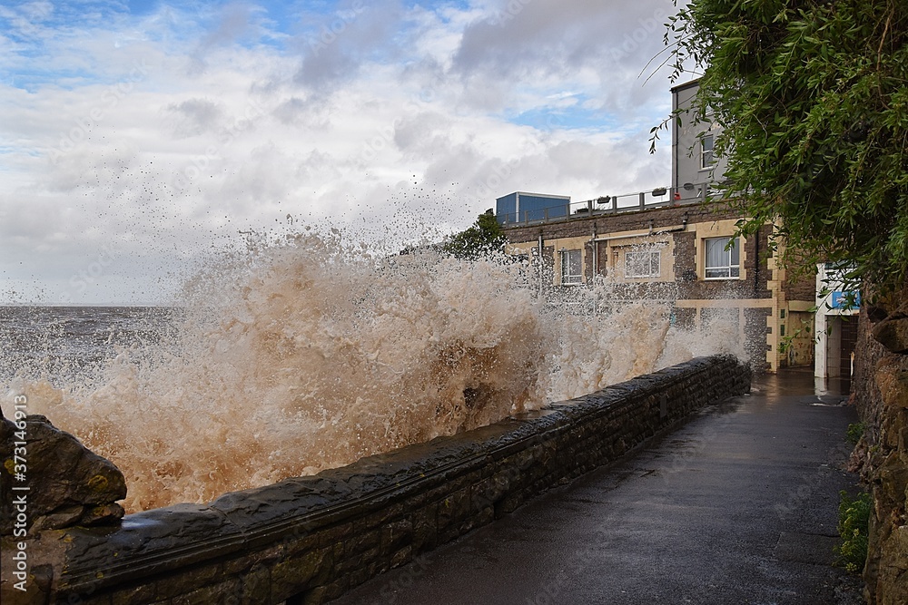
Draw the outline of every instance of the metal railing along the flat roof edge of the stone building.
M626 193L623 195L603 196L596 200L574 201L548 208L521 210L498 214L498 222L503 227L529 225L558 220L583 219L590 216L614 214L617 212L637 212L666 206L696 204L721 195L713 189L712 183L687 183L684 187L658 187L650 191Z

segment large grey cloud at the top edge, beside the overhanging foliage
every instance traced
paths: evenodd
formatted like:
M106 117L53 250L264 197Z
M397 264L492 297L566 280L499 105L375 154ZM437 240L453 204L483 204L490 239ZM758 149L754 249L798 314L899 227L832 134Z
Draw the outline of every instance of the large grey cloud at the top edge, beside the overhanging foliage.
M585 88L610 112L633 114L666 94L656 85L644 90L646 74L639 76L664 48L664 23L675 12L672 0L510 0L499 9L466 27L453 56L450 75L463 84L463 102L470 106L504 108L512 89L581 72L597 78L593 89L589 83Z

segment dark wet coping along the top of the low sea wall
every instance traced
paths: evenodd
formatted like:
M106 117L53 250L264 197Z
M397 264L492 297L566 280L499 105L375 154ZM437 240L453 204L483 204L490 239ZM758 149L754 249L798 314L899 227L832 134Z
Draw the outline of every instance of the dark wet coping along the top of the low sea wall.
M596 393L546 405L540 414L518 415L464 433L439 436L313 476L225 493L208 504L182 503L135 512L126 515L118 529L69 528L44 532L37 540L59 541L57 546L64 550L63 569L54 573L57 594L104 593L160 581L193 565L262 551L280 544L281 536L297 535L303 540L364 519L530 446L554 444L559 435L577 426L633 411L641 399L654 398L658 416L656 396L685 384L692 376L716 371L746 376L737 380L732 392L716 392L716 387L705 381L704 401L696 407L739 395L749 389L749 368L742 368L746 366L732 356L699 357ZM660 426L646 440L671 428ZM577 473L568 473L568 478L573 476Z

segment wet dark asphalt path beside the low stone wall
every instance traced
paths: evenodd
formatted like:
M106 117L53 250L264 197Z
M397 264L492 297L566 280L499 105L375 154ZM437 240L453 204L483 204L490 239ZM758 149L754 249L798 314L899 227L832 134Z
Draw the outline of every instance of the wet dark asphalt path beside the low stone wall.
M420 555L334 605L836 603L856 421L813 376L755 379L632 458Z

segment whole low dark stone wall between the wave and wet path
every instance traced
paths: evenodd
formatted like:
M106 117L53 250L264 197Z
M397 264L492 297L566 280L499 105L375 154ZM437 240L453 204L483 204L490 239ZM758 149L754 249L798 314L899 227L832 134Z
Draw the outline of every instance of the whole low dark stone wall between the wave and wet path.
M7 583L3 602L325 602L749 386L735 358L703 357L208 505L134 513L114 529L43 532L29 545L29 592Z

